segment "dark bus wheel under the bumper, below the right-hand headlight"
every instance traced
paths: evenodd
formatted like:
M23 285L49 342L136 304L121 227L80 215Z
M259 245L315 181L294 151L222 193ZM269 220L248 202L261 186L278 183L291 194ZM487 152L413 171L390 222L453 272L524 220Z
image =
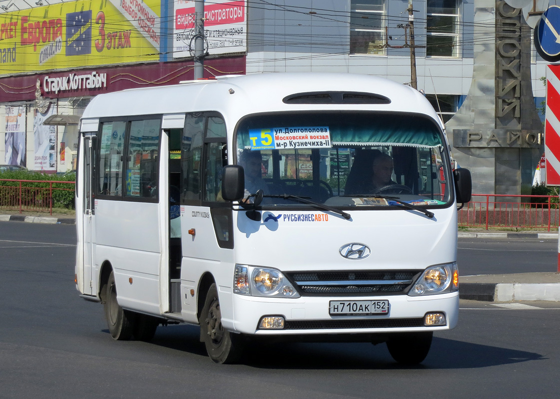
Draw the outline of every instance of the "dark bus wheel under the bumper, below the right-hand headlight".
M391 357L401 364L421 363L432 346L432 331L423 333L402 333L391 335L387 348Z

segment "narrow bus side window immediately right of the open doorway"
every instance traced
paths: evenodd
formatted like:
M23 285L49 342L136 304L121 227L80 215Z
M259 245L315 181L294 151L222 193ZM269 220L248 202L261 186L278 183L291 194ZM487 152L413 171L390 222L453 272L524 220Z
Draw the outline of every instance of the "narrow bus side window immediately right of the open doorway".
M181 204L200 203L200 159L204 136L204 115L189 113L181 138Z

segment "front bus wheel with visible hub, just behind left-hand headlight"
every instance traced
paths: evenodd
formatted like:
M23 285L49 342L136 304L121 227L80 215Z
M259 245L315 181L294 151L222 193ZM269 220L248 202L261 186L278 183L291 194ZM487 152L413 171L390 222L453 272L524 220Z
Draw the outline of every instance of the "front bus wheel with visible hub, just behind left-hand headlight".
M238 334L232 334L222 326L222 314L216 284L208 289L204 307L200 313L200 339L206 346L208 356L214 363L234 363L241 354Z

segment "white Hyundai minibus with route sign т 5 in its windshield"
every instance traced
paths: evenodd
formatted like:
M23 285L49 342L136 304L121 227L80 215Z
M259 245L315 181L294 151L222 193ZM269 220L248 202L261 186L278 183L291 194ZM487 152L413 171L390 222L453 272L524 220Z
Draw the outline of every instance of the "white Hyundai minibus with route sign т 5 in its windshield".
M424 96L275 73L100 94L80 122L80 296L116 340L200 326L216 363L278 339L386 343L424 360L457 324L452 170Z

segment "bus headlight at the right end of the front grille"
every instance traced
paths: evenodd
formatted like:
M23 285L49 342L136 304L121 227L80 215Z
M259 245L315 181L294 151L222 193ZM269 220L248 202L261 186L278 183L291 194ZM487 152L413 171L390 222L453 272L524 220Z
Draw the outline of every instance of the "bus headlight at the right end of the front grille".
M457 291L459 270L456 263L432 266L424 270L408 295L433 295Z

